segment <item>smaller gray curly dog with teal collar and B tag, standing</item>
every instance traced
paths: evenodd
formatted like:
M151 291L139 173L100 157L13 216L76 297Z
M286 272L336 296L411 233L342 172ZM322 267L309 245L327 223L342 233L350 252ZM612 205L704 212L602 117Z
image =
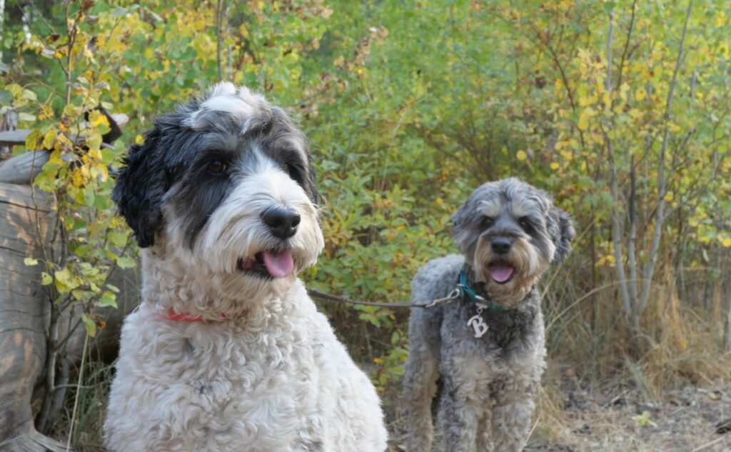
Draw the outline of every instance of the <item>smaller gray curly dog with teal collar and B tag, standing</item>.
M452 216L461 255L431 260L412 282L404 396L408 450L431 450L431 402L448 452L523 450L545 368L537 282L571 251L572 219L550 195L517 178L488 182Z

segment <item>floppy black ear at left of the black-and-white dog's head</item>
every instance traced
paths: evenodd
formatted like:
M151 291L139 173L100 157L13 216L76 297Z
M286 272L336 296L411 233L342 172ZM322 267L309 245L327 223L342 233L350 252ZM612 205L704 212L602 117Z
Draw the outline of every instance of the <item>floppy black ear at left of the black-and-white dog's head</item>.
M157 150L160 131L152 129L145 143L132 145L118 173L112 200L132 228L140 248L151 246L162 226L162 196L167 177Z

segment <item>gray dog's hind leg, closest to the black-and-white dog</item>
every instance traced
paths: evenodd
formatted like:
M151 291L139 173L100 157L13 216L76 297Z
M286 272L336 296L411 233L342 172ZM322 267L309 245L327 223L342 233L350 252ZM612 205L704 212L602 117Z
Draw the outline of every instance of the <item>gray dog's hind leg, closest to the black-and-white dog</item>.
M404 399L408 419L406 447L409 452L428 452L431 448L431 400L436 393L438 366L439 360L425 344L412 339L404 372Z

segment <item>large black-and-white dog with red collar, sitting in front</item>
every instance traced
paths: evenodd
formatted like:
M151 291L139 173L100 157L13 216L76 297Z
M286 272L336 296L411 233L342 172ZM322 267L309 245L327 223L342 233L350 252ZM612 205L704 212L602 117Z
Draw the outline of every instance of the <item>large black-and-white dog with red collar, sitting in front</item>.
M296 274L322 251L303 133L230 83L160 116L114 200L140 244L110 451L384 451L373 385Z

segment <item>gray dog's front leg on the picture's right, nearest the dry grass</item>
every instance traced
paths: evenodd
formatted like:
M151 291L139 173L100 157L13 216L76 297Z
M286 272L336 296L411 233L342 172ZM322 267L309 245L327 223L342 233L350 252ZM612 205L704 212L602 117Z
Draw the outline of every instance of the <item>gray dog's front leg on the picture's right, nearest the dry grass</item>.
M515 374L502 380L493 391L492 433L495 452L520 452L531 429L531 414L538 378Z

